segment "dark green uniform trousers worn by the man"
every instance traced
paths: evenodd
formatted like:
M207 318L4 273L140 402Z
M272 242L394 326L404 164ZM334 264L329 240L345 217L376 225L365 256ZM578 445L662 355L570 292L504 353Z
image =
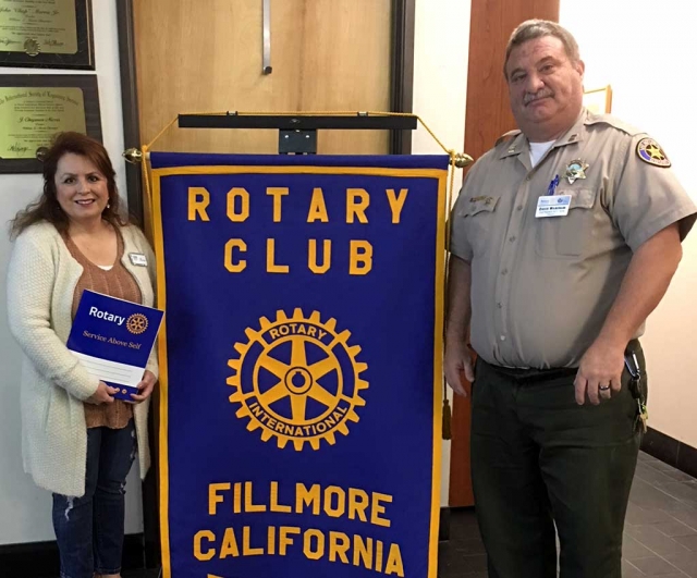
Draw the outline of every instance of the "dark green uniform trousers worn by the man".
M646 392L644 355L637 342ZM637 402L574 398L575 370L477 360L472 475L489 578L620 578L622 532L640 444Z

